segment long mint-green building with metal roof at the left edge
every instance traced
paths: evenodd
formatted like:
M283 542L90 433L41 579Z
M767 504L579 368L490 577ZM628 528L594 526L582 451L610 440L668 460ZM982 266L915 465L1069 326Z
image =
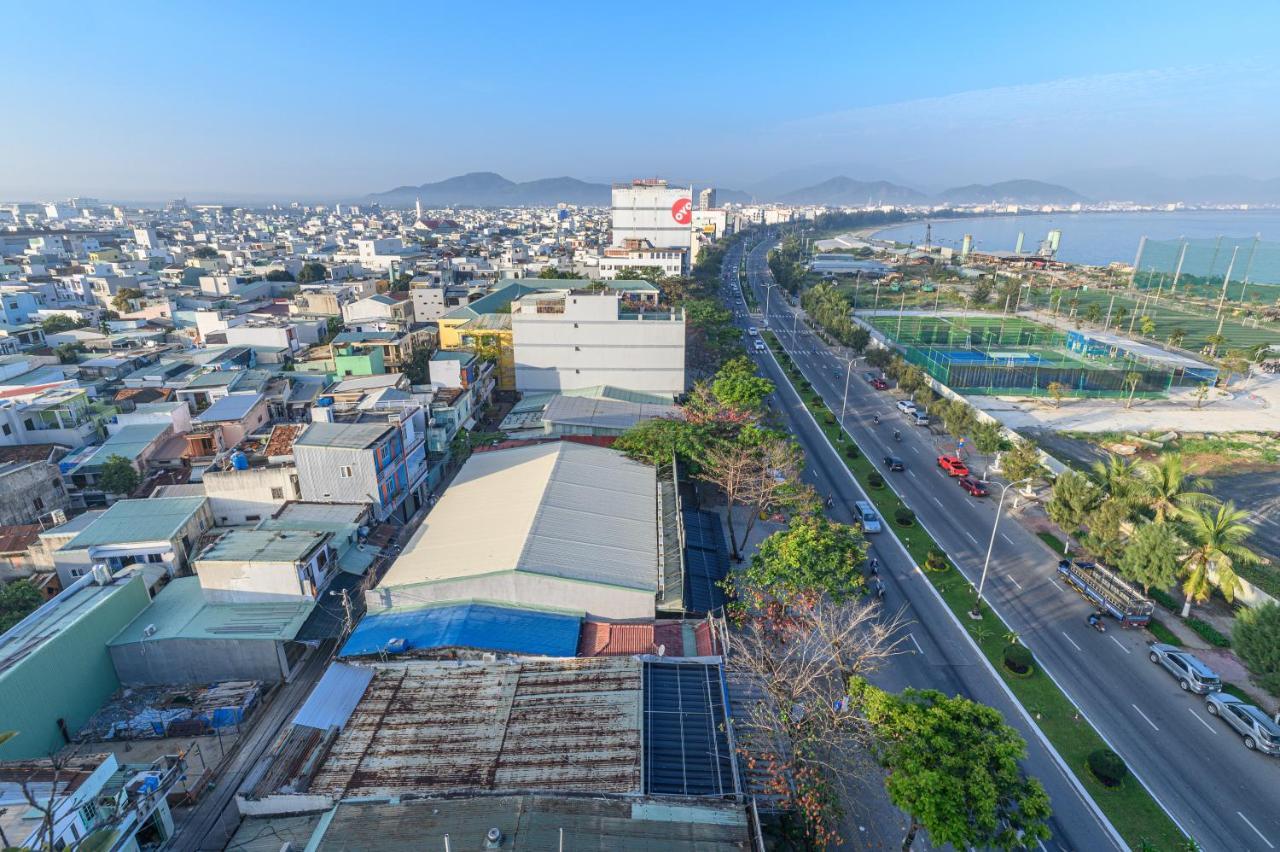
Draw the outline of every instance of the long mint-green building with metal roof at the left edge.
M67 583L0 635L0 719L17 732L0 742L0 760L45 757L67 745L120 687L106 643L150 600L141 572L104 571Z

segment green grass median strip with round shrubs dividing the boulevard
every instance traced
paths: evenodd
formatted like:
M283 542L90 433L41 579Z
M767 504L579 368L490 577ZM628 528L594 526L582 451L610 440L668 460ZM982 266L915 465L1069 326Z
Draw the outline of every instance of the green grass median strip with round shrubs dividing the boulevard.
M883 478L891 476L882 467L877 466L878 459L868 459L858 449L855 457L850 458L849 446L856 446L852 439L845 434L840 423L836 422L826 402L813 390L804 390L808 383L804 374L795 365L791 357L778 345L778 340L772 331L763 331L762 336L769 344L774 357L782 366L783 374L791 381L791 386L800 395L805 407L813 413L818 427L826 434L827 440L836 449L845 466L854 473L861 484L863 490L870 496L872 503L879 510L884 523L893 525L897 537L906 546L911 559L918 565L923 565L929 550L942 550L933 541L932 536L924 531L919 523L901 526L895 522L899 509L908 508L901 498L888 486L887 481L879 487L872 485L872 473ZM837 402L838 407L838 402ZM1061 542L1059 542L1061 548ZM945 553L945 551L943 551ZM1023 707L1036 719L1044 736L1057 752L1075 771L1076 778L1098 803L1098 807L1107 815L1120 835L1134 849L1181 849L1185 847L1185 838L1174 821L1165 814L1164 809L1156 803L1142 784L1132 775L1120 787L1103 787L1089 771L1087 759L1089 752L1097 748L1106 748L1102 737L1080 715L1071 700L1057 688L1057 684L1043 673L1039 665L1030 675L1015 675L1004 665L1004 650L1009 645L1010 628L989 608L983 606L986 618L972 620L968 615L973 609L975 591L973 583L960 573L954 563L947 560L943 571L922 571L929 582L946 601L951 611L956 614L960 623L965 626L974 642L991 661L996 672L1018 697Z

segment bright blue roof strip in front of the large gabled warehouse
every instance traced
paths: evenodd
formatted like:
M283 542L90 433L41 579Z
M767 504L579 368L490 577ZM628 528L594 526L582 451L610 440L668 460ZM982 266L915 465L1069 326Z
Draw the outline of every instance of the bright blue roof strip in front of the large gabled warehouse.
M582 619L490 604L451 604L366 615L340 656L470 647L508 654L576 656Z

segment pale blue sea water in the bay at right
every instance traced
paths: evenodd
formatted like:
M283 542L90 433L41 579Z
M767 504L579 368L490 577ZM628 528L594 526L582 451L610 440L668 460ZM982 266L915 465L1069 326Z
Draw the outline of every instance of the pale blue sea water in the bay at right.
M1034 252L1051 229L1062 232L1057 257L1071 264L1105 266L1114 261L1133 264L1142 237L1148 241L1193 241L1196 266L1212 267L1221 276L1231 249L1239 246L1238 264L1231 280L1239 280L1248 266L1253 281L1280 283L1280 210L1258 211L1171 211L1134 214L1030 214L980 219L934 220L933 243L960 247L965 234L973 234L974 248L984 252L1011 252L1018 233L1025 234L1023 251ZM877 232L877 237L902 243L922 244L925 221L913 221ZM1253 237L1262 243L1253 246ZM1219 237L1225 237L1221 244ZM1149 253L1142 262L1169 265L1176 255L1172 246L1148 244ZM1252 264L1245 260L1252 253ZM1185 270L1184 271L1190 271ZM1204 274L1197 269L1197 274Z

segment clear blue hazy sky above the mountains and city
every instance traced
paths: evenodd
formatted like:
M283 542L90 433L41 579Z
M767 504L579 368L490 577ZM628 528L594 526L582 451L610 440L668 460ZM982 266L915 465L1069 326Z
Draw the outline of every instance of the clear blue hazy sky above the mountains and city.
M617 5L10 4L0 198L1280 177L1280 3Z

